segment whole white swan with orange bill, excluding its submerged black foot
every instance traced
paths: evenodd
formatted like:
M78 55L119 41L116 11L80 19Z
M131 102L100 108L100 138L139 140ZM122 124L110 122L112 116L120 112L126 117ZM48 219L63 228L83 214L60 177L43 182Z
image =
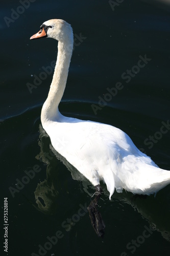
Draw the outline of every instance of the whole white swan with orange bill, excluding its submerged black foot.
M55 150L99 189L103 180L111 196L123 189L150 195L170 183L170 171L160 169L141 153L130 137L108 124L68 118L58 110L70 64L73 33L62 19L44 22L30 39L51 37L58 40L58 56L41 122Z

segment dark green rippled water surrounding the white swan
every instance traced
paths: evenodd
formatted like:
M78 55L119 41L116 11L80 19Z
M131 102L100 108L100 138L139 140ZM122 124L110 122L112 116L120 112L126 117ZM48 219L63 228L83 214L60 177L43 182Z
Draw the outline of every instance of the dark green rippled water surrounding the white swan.
M156 197L124 191L109 201L103 184L105 236L96 236L87 212L94 188L54 156L40 127L57 43L29 38L45 20L70 23L75 49L60 111L119 127L170 170L170 7L136 0L112 7L104 0L3 2L1 223L8 198L9 226L8 252L2 246L1 255L169 255L170 186Z

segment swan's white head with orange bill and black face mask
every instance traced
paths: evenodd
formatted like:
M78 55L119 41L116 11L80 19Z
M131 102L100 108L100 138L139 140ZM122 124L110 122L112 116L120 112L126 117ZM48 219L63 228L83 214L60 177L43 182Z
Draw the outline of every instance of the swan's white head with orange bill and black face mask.
M50 37L58 41L72 40L72 28L63 19L50 19L40 26L40 31L31 36L30 39Z

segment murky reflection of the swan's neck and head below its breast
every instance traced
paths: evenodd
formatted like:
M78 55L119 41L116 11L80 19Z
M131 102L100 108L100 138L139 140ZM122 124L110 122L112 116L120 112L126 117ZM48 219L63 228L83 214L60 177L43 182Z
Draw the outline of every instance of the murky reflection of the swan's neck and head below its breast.
M34 192L37 204L36 207L44 214L52 215L58 212L58 208L55 206L58 197L62 197L63 202L65 203L65 196L72 192L73 188L71 187L72 184L69 182L69 178L71 181L72 179L81 181L80 189L83 193L85 191L90 197L94 193L94 190L93 186L86 180L86 178L54 150L50 138L42 129L41 125L39 131L40 135L38 143L40 146L40 153L36 158L46 166L46 179L37 185ZM64 177L65 173L62 174L59 161L57 161L56 158L60 160L60 163L64 163L66 169L70 170L72 178L70 177L69 172L67 172L67 177ZM69 206L69 202L67 206Z

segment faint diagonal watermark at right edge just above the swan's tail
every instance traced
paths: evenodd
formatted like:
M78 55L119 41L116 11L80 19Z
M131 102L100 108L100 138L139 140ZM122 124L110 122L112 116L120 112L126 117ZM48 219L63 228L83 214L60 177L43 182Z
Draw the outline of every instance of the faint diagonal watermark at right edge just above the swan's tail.
M159 131L155 132L154 135L150 135L148 138L146 138L143 141L143 144L151 150L151 148L154 146L154 144L158 143L159 140L162 139L163 135L166 134L170 130L170 123L169 120L166 122L161 122L161 127ZM145 153L144 148L139 148L139 150L143 153Z

